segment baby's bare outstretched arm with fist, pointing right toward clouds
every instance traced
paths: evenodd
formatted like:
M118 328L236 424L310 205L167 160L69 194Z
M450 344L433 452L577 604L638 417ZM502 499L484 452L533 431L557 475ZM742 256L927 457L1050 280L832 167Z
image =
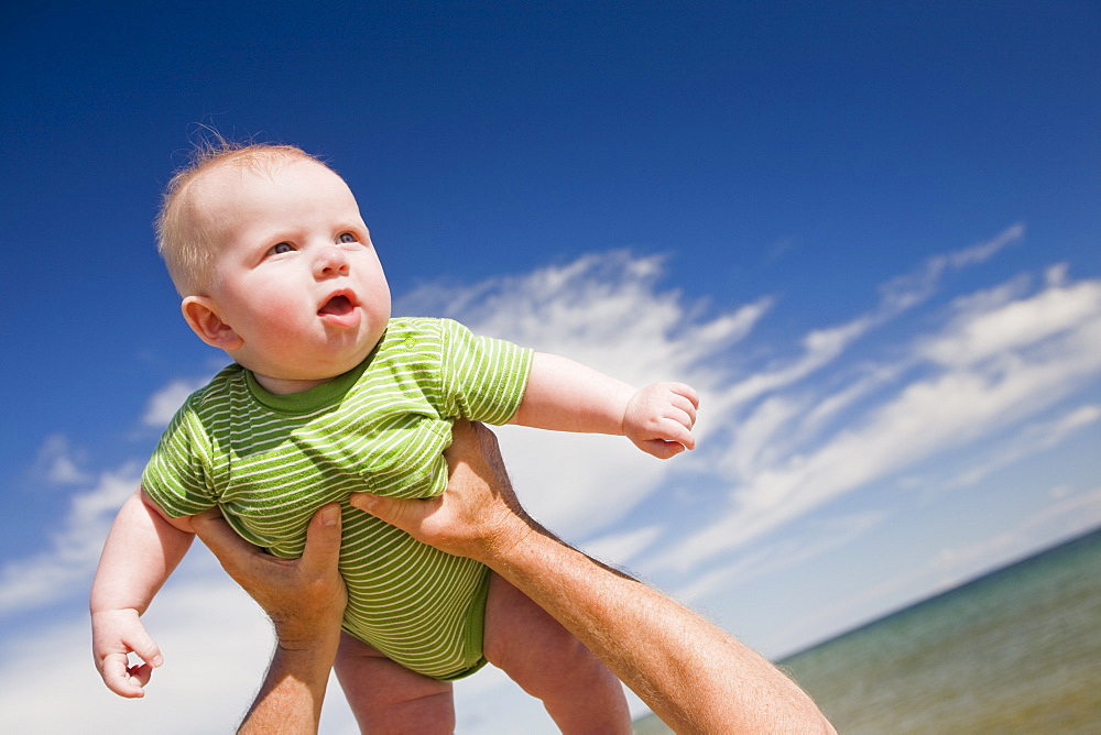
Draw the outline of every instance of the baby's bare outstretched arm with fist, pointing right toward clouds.
M668 459L696 446L691 427L698 406L696 392L683 383L654 383L635 391L567 358L536 352L512 423L625 436L644 452Z

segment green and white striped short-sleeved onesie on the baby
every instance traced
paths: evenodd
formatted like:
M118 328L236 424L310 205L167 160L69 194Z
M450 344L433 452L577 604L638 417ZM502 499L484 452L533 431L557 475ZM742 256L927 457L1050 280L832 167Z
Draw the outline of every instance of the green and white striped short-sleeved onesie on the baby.
M345 629L406 668L457 679L484 662L488 570L347 500L444 492L451 419L508 423L531 361L458 322L403 318L355 370L303 393L270 393L230 365L172 419L142 486L171 517L220 506L237 533L284 558L302 555L318 507L341 503Z

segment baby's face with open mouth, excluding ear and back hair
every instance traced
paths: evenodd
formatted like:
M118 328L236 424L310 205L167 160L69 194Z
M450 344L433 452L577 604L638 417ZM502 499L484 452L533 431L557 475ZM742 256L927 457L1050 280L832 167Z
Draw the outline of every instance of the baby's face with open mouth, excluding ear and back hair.
M195 205L217 245L207 296L239 338L235 360L266 384L324 381L367 358L390 287L344 179L312 161L272 175L224 166L204 174Z

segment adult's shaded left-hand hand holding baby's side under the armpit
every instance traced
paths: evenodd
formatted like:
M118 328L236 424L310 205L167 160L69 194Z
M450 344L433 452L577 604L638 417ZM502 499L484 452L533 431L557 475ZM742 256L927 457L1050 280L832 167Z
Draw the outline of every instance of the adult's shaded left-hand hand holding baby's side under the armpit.
M338 635L348 600L337 570L339 505L326 505L314 514L298 559L279 559L252 546L217 511L193 516L192 524L222 568L272 618L281 647L312 648Z

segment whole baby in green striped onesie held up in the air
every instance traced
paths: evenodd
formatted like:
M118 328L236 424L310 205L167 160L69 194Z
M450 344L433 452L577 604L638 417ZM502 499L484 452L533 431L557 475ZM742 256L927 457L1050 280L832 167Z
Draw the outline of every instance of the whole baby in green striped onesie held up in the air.
M347 498L442 493L458 417L623 435L669 458L694 447L695 392L635 391L450 320L392 319L351 190L299 149L200 155L157 224L184 319L235 362L173 418L108 536L91 591L107 687L142 696L163 662L139 616L190 545L190 516L217 507L247 540L296 558L313 513L339 502L348 606L335 668L362 729L450 732L449 682L490 661L564 732L629 732L622 687L553 617Z

